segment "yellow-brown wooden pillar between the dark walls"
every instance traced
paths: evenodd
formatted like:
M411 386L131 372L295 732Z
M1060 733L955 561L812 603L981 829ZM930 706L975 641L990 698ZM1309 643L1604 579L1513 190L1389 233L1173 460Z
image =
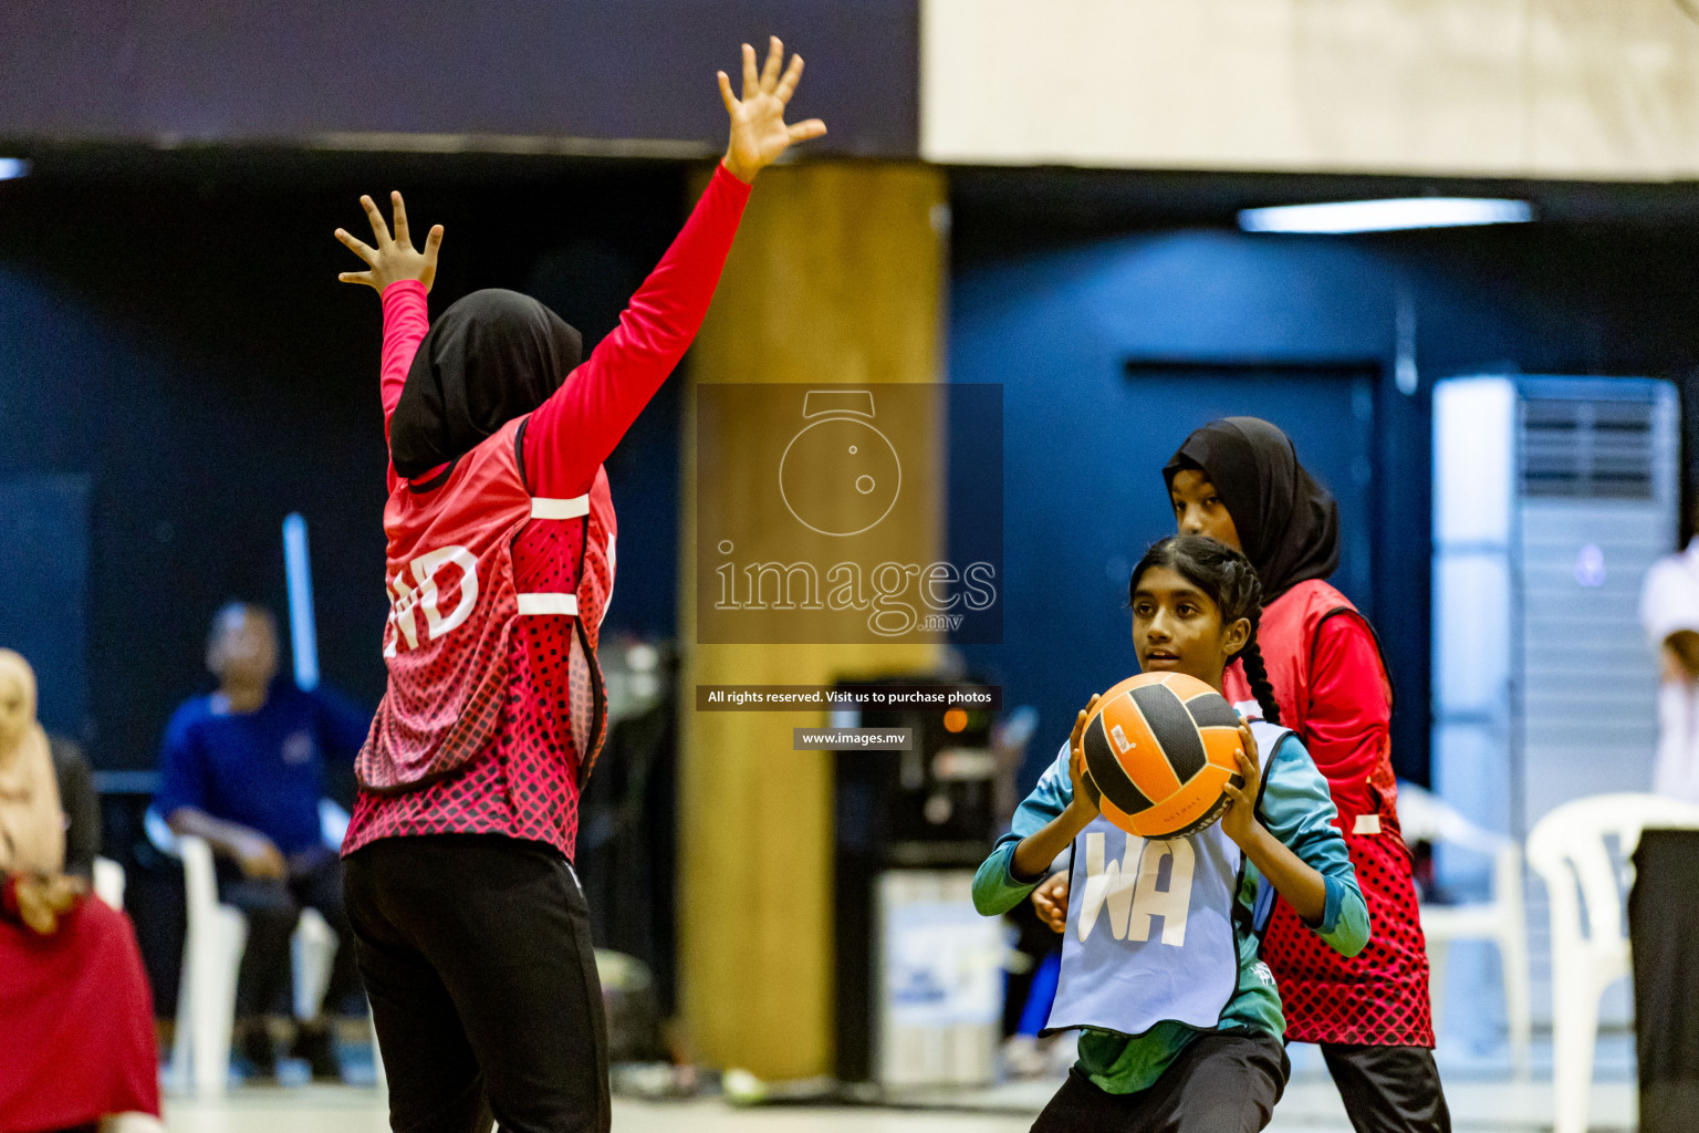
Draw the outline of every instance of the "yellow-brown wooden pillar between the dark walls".
M936 662L936 645L691 644L695 389L710 382L938 380L945 200L943 173L916 165L765 172L690 358L680 530L680 637L686 642L681 1009L700 1058L765 1079L833 1067L831 758L790 751L793 727L824 719L698 713L695 686L824 685L846 674L912 673ZM758 416L737 425L751 437L770 426ZM931 554L943 542L941 477L906 479L904 491L911 484L931 496L904 538ZM749 506L783 504L763 498ZM773 521L792 520L775 515Z

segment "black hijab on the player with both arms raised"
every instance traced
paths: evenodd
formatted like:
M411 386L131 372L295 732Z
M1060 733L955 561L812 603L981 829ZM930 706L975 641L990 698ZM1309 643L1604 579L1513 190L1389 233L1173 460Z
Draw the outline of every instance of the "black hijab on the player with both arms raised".
M413 479L549 399L583 338L530 296L474 290L430 328L389 418L389 460Z

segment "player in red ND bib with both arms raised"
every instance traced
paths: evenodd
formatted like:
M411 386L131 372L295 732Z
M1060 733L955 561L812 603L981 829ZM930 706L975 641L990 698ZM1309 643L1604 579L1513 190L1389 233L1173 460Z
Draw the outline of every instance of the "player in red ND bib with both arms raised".
M685 229L579 365L579 336L513 292L467 296L426 330L442 228L391 236L345 282L384 304L389 688L357 761L343 844L348 917L408 1133L607 1130L601 990L573 853L605 730L596 639L613 591L603 459L707 314L751 178L793 141L802 59L773 39Z

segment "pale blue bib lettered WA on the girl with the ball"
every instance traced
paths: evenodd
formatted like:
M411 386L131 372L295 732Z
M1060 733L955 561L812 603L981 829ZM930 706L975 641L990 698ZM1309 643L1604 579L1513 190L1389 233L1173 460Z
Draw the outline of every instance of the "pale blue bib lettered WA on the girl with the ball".
M1290 732L1262 720L1250 730L1266 773ZM1074 839L1062 975L1047 1031L1143 1034L1169 1019L1215 1028L1239 987L1233 912L1242 866L1220 822L1191 837L1143 839L1092 819Z

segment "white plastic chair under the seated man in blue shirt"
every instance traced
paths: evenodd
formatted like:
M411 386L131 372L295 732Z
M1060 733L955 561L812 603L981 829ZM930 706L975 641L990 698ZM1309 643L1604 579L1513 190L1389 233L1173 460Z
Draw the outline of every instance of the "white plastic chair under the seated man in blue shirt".
M178 836L155 810L144 819L148 841L183 863L189 931L177 995L177 1036L172 1045L173 1087L209 1096L229 1082L229 1040L236 1016L236 977L248 946L248 919L217 900L217 871L206 839ZM319 826L326 844L341 844L348 814L319 800ZM335 839L331 837L335 834ZM336 933L316 909L302 909L289 941L297 1019L318 1017L336 958Z

